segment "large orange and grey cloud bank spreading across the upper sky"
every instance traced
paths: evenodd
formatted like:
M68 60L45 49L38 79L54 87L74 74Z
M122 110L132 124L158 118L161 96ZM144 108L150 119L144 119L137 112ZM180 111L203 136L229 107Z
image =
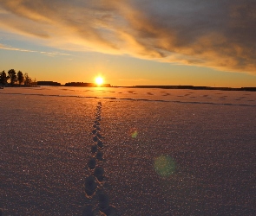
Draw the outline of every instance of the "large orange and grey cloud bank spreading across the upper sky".
M0 29L48 46L256 74L252 0L0 0Z

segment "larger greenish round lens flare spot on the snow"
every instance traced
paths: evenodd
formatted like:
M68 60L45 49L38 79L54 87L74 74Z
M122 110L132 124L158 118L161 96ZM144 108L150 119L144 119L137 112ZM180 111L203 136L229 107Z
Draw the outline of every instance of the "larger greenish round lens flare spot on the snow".
M158 175L168 177L175 172L175 162L170 156L159 156L154 159L154 169Z

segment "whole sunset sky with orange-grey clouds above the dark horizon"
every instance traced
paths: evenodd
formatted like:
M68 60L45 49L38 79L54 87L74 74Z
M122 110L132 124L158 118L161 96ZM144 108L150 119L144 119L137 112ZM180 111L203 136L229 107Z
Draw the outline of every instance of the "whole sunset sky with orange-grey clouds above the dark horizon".
M0 71L112 86L256 86L255 0L0 0Z

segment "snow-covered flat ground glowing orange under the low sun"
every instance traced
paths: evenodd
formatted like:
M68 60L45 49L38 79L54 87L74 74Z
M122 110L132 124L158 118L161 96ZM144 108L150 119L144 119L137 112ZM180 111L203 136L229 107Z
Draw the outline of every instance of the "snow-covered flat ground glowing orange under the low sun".
M255 215L255 108L256 92L4 88L0 208Z

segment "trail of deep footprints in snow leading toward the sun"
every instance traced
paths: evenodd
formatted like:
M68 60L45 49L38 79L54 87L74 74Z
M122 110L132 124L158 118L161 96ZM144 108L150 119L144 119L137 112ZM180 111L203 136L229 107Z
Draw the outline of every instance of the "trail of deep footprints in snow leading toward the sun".
M95 111L95 121L93 124L93 144L91 146L91 157L87 162L87 169L90 175L84 181L84 192L89 200L82 210L82 216L107 215L115 216L117 210L110 205L108 194L104 191L105 174L102 165L104 163L104 137L101 134L102 103L98 102Z

